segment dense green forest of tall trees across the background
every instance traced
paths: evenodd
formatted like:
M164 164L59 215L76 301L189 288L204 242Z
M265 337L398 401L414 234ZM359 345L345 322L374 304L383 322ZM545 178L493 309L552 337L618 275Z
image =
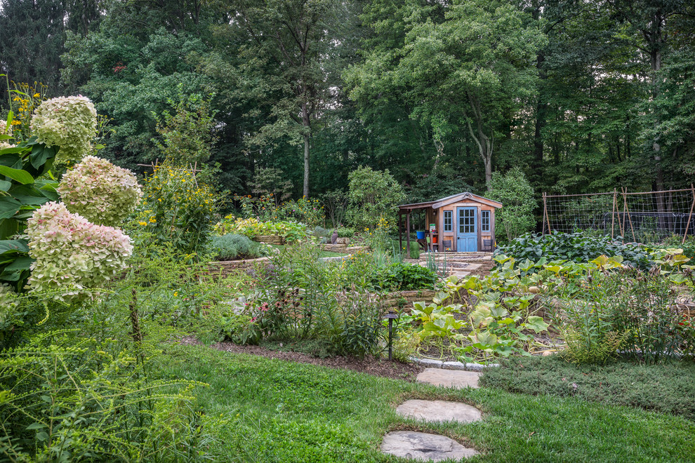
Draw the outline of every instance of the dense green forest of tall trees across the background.
M111 119L100 156L135 171L184 107L180 129L193 148L213 140L219 188L237 194L261 168L294 197L388 168L408 201L484 193L512 168L536 196L695 182L692 1L0 6L0 74L91 98Z

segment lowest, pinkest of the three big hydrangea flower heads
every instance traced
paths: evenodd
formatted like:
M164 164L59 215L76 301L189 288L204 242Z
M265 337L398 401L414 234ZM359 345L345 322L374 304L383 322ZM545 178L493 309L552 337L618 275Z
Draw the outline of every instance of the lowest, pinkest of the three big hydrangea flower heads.
M128 235L72 214L50 202L34 211L27 225L29 255L35 259L29 286L56 291L62 301L84 300L124 269L133 253Z

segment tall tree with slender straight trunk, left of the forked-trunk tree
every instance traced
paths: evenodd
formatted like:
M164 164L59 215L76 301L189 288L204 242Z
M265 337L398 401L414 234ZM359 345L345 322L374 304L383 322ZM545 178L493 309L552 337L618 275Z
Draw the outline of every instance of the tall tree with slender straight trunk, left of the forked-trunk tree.
M227 2L219 2L229 11ZM265 102L270 120L249 137L251 145L264 147L287 139L303 147L303 194L309 195L312 124L330 98L324 60L330 53L333 2L328 0L241 0L232 4L238 21L230 29L246 32L241 67L251 79L249 91L277 95Z

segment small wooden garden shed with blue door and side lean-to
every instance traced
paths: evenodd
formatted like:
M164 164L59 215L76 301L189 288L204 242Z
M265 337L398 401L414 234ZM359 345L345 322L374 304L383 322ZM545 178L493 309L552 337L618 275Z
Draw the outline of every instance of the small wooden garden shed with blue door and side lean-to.
M418 231L418 242L431 251L459 253L492 252L495 246L495 210L502 203L468 192L446 196L426 203L398 206L398 241L410 254L411 214L418 211L418 222L424 218L424 228ZM403 217L405 216L405 218Z

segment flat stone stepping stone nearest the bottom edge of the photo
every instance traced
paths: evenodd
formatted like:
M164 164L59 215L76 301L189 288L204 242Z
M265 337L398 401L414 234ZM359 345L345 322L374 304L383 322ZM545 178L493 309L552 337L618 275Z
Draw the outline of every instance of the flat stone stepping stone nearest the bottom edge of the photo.
M443 459L462 459L477 455L475 449L437 434L414 431L393 431L384 436L381 451L397 457L441 462Z

